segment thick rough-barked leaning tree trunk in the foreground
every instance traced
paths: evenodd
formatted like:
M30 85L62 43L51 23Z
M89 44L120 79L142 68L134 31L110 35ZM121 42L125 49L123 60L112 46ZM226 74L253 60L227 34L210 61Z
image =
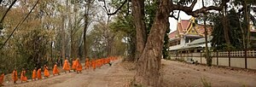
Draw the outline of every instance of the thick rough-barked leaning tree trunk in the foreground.
M164 36L166 29L169 29L170 0L160 0L154 18L153 26L149 32L148 41L143 50L143 55L137 62L137 74L135 84L142 84L145 87L160 87L160 63Z

